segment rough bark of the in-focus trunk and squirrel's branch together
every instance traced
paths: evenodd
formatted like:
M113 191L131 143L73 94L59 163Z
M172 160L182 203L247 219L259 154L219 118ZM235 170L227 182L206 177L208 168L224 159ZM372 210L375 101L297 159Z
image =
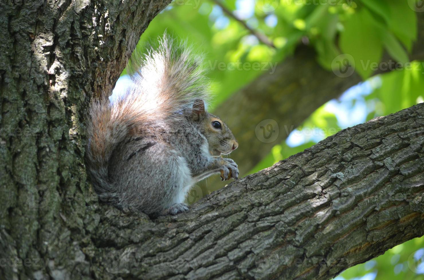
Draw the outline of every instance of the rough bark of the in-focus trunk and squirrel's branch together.
M424 233L423 104L339 132L176 217L99 203L84 170L88 97L111 91L166 4L0 4L0 278L328 279Z

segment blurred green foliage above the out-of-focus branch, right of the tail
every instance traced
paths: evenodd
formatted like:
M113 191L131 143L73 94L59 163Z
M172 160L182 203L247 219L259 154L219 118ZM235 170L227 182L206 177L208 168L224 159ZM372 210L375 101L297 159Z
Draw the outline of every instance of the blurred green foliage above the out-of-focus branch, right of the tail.
M411 1L411 0L408 0ZM412 0L414 1L414 0ZM418 0L419 1L419 0ZM331 70L343 54L363 77L372 73L383 50L402 63L416 39L416 13L399 0L227 0L223 5L276 48L260 44L239 22L213 1L176 0L156 16L143 33L138 48L164 31L187 38L206 53L205 66L214 81L215 107L253 80L264 69L252 63L281 62L298 44L311 44L317 60ZM234 69L234 63L239 68ZM243 66L245 64L245 67ZM270 67L265 70L271 71ZM125 74L125 72L124 72ZM218 94L219 93L219 94Z

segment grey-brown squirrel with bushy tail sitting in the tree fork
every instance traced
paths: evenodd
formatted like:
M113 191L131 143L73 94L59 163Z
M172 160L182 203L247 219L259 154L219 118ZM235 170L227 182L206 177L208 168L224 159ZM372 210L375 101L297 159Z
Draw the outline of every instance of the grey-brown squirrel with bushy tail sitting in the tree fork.
M148 215L188 210L184 200L215 173L237 179L237 146L228 126L205 109L203 58L163 36L159 47L128 62L132 85L89 108L87 170L95 192L118 209Z

